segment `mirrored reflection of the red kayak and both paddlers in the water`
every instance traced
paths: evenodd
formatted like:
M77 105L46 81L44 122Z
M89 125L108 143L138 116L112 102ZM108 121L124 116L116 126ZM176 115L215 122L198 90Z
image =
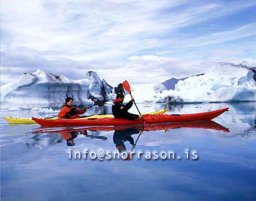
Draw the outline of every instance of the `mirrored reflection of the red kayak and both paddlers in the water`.
M135 148L135 143L132 135L141 134L142 131L155 131L155 130L164 130L168 131L169 129L176 128L200 128L200 129L214 129L224 132L229 132L228 128L223 127L222 125L214 121L196 121L196 122L179 122L179 123L161 123L161 124L137 124L137 125L124 125L124 126L99 126L99 127L83 127L83 128L63 128L63 129L45 129L35 131L36 133L60 133L64 140L67 141L67 146L74 146L74 139L78 135L84 135L92 139L101 139L107 140L105 136L89 135L88 131L114 131L113 141L116 145L116 148L119 152L126 150L124 142L129 141L130 144ZM96 133L96 132L95 132Z

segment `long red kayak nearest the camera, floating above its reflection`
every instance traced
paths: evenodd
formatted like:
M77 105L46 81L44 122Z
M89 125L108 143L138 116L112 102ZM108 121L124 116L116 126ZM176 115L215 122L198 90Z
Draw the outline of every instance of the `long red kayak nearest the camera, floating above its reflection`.
M227 111L228 108L201 112L196 114L182 114L182 115L145 115L143 116L146 124L157 124L157 123L172 123L172 122L192 122L192 121L207 121L221 115L223 112ZM141 118L136 120L125 120L122 118L93 118L93 119L58 119L58 120L46 120L43 118L32 119L43 126L46 127L60 127L60 126L87 126L87 125L133 125L133 124L143 124Z

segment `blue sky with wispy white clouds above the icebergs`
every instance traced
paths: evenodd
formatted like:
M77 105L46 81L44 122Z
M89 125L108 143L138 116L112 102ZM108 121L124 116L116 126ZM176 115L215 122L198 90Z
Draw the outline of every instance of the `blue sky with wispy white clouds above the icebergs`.
M1 5L1 85L38 68L110 85L161 83L216 62L256 66L256 1L13 1Z

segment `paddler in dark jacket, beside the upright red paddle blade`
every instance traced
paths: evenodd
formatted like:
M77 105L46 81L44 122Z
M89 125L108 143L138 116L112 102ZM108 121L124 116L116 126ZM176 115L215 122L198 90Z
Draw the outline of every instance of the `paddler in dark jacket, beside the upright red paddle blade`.
M116 95L112 105L112 113L115 118L126 118L127 120L135 120L136 118L141 117L141 115L135 115L128 112L133 106L134 99L130 99L130 102L126 105L123 104L124 96L122 93Z

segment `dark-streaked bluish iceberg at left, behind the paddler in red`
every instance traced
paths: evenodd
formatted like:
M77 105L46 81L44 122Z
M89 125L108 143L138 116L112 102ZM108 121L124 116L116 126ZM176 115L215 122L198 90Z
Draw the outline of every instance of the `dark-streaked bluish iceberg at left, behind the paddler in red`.
M93 71L86 73L86 79L71 80L37 70L23 73L17 81L1 87L1 109L14 106L20 109L61 108L66 97L73 97L76 106L93 105L97 101L104 103L109 101L110 88Z

